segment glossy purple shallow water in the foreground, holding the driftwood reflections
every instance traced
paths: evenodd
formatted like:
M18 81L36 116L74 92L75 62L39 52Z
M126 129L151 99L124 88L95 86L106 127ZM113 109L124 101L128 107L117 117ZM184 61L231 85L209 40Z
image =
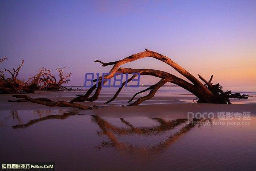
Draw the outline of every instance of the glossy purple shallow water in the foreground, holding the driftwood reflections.
M200 122L4 110L0 161L55 162L57 171L255 170L255 116L249 125Z

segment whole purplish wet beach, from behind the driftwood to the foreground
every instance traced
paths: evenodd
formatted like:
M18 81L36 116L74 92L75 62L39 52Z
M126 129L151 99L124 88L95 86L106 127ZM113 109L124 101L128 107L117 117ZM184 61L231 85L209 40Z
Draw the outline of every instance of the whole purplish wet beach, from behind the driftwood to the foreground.
M84 92L36 92L32 97L71 100ZM93 110L9 103L0 96L0 161L55 162L56 171L238 170L256 168L256 103L196 104L187 93L158 93L140 106L125 106L131 92L110 104L103 91ZM145 95L145 94L144 94ZM240 103L240 104L238 104ZM193 125L187 112L250 112L240 125L218 118ZM247 122L248 125L242 125Z

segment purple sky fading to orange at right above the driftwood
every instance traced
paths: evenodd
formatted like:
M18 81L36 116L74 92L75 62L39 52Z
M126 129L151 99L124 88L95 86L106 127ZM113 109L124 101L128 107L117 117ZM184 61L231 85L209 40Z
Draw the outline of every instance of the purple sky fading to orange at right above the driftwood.
M9 58L1 70L21 59L24 77L68 66L70 85L83 85L86 72L111 69L96 59L116 61L145 48L194 75L213 74L214 83L256 85L256 1L0 0L0 57ZM151 58L124 67L176 73Z

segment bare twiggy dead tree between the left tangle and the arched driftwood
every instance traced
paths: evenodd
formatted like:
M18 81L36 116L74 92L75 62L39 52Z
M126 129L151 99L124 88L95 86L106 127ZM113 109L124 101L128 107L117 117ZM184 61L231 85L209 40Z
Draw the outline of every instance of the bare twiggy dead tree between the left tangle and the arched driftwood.
M67 68L67 67L64 67ZM67 87L64 87L62 84L66 84L70 81L70 76L72 72L69 74L64 74L64 68L58 68L58 81L55 78L54 75L52 75L50 70L47 70L46 68L42 68L40 70L40 77L39 77L39 82L41 83L41 87L39 90L53 90L53 91L58 91L58 90L71 90L68 89Z

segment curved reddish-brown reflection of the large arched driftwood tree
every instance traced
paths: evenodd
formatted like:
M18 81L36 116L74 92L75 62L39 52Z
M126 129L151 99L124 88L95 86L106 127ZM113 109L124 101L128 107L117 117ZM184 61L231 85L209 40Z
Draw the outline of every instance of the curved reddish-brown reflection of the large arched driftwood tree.
M157 121L160 123L160 125L150 126L150 127L134 127L130 122L125 121L125 119L120 118L122 123L127 125L129 128L119 128L115 125L112 125L111 123L107 122L105 119L102 119L100 116L93 115L93 121L96 122L99 125L99 128L101 128L102 133L99 133L101 135L108 136L108 139L110 142L103 141L102 145L96 146L96 148L102 148L102 147L114 147L118 148L121 151L127 151L135 153L141 153L141 154L148 154L149 152L160 152L167 148L169 148L170 145L177 142L178 139L186 135L186 133L189 132L193 127L196 125L201 125L201 122L206 122L207 120L210 121L210 119L193 119L192 121L187 122L188 119L175 119L172 121L166 121L165 119L160 118L151 118L154 119L154 121ZM198 124L199 123L199 124ZM201 123L201 124L200 124ZM157 134L164 131L169 131L172 129L175 129L177 126L183 125L183 127L178 130L176 133L174 133L172 136L169 136L166 140L158 143L157 145L146 145L145 147L140 147L137 145L131 145L128 143L120 142L115 134L118 136L122 135L128 135L128 134L140 134L140 135L146 135L146 134Z

